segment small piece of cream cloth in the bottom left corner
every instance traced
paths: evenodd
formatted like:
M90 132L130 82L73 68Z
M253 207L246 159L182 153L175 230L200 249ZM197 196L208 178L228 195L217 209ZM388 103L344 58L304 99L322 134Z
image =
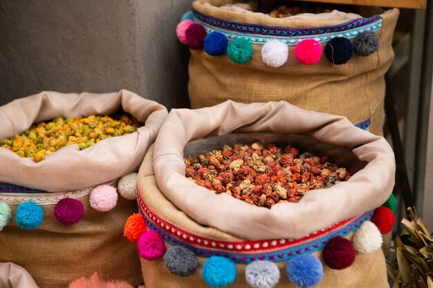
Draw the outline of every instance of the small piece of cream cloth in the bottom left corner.
M0 263L0 287L39 288L26 269L12 262Z

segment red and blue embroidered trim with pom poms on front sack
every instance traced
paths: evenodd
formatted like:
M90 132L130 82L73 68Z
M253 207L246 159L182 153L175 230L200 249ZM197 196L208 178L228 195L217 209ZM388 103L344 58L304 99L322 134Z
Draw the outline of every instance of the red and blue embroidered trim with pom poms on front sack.
M149 231L141 236L138 243L140 256L147 260L164 257L167 269L175 275L184 277L194 273L196 269L194 264L196 259L192 255L209 258L203 265L202 276L211 287L230 285L236 278L235 263L246 263L248 266L245 277L251 287L273 288L279 282L279 269L274 262L285 260L288 260L286 272L291 282L300 287L314 287L323 277L322 262L311 255L314 251L323 249L322 258L331 269L345 269L355 261L356 251L371 253L380 249L382 243L376 244L377 236L380 240L382 237L376 225L369 221L374 217L374 211L298 240L221 241L201 237L160 218L147 207L139 191L138 206L149 227ZM385 207L380 207L383 208ZM376 209L376 212L380 209ZM374 228L374 231L371 231L371 228ZM358 230L361 233L358 233ZM343 237L353 232L355 234L352 244ZM142 238L147 238L149 233L153 233L152 240L146 240L145 246L156 250L157 257L153 254L151 257L145 256L143 249L140 248ZM163 256L165 242L174 245L169 254L166 253L167 256ZM248 273L249 270L251 273Z

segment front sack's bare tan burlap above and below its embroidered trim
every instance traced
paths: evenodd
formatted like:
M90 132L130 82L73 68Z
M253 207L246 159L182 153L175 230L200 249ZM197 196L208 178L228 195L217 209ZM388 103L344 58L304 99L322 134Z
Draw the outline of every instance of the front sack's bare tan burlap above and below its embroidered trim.
M230 236L218 229L201 225L189 218L183 211L175 207L172 202L161 193L156 185L154 170L152 166L152 157L154 146L152 145L145 156L142 166L137 177L137 187L142 199L146 202L151 211L154 211L158 216L180 225L183 229L196 233L201 236L208 236L216 239L236 240L238 238ZM181 191L179 191L181 193ZM353 233L347 238L351 240ZM171 247L166 243L167 249ZM321 251L313 253L317 257L321 257ZM192 276L185 278L175 276L170 273L165 267L163 259L155 261L147 261L141 259L142 274L145 279L146 288L190 288L190 287L208 287L201 276L201 267L207 258L197 257L199 268ZM280 269L281 277L276 288L296 288L296 285L289 282L284 262L277 262ZM371 254L356 254L356 261L350 267L343 270L330 269L324 266L324 278L317 288L336 288L336 287L369 287L369 288L385 288L387 286L387 274L385 267L385 258L383 251L378 251ZM245 280L245 264L237 264L237 278L232 285L227 287L250 287Z

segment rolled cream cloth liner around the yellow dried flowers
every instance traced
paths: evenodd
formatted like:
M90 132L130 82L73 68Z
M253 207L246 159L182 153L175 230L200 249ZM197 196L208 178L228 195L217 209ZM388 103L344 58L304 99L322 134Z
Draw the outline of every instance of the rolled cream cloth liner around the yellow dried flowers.
M44 191L81 190L138 170L156 138L167 109L128 90L107 94L42 92L0 106L0 140L22 133L33 123L55 117L107 115L119 108L145 122L137 132L112 137L80 151L66 146L42 162L0 148L0 182Z

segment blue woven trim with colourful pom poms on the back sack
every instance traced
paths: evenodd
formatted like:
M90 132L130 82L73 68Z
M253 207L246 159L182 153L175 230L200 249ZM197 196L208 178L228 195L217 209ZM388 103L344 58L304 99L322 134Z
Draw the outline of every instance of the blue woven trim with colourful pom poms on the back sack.
M185 14L186 15L186 14ZM227 53L228 58L236 64L246 64L252 58L252 44L263 45L261 58L271 67L283 66L288 61L286 49L279 47L296 46L293 55L304 65L313 65L320 61L322 50L332 64L344 64L354 52L368 56L378 49L377 31L383 27L380 16L353 19L333 26L288 28L264 26L253 23L239 23L204 15L193 10L185 21L194 21L194 32L190 32L190 40L179 37L182 43L188 44L192 50L203 48L211 56ZM181 23L179 25L181 25ZM185 33L188 34L188 33ZM218 35L210 37L209 35ZM185 35L186 38L186 35ZM213 39L214 38L214 39ZM353 39L353 45L351 44ZM208 42L208 44L206 44ZM228 48L225 43L228 43ZM248 44L247 44L248 43ZM326 44L325 47L322 44ZM355 48L355 49L354 49Z

